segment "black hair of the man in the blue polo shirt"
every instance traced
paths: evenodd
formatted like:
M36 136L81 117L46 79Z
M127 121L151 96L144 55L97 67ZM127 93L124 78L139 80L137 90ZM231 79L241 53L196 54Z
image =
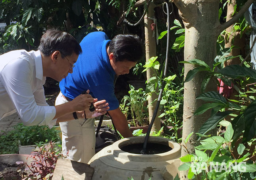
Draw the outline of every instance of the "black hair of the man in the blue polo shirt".
M109 44L109 52L114 54L115 61L137 62L143 56L141 38L132 34L118 34Z

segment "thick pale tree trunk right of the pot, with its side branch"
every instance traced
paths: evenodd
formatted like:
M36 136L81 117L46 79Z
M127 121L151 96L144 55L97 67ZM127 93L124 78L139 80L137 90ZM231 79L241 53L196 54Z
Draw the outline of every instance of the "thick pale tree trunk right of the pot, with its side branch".
M173 0L179 8L180 16L185 25L185 47L184 59L200 59L212 67L213 59L216 57L216 40L221 31L231 26L243 15L254 0L248 0L244 7L230 21L220 25L218 19L219 0ZM185 76L195 66L185 64ZM183 147L181 156L194 153L196 134L200 126L208 119L210 112L194 116L194 111L202 105L202 101L195 98L200 95L203 73L198 73L191 81L184 85L184 107L183 107L183 133L182 144L187 146L187 152ZM215 90L216 85L210 84L207 90ZM194 132L187 144L184 143L187 136ZM187 179L187 172L181 171L182 180Z

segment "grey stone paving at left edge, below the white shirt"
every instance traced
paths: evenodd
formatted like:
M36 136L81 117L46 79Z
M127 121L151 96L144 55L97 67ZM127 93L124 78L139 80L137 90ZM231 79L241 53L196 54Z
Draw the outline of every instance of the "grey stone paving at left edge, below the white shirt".
M8 132L13 130L13 126L21 123L19 116L17 113L14 113L10 116L7 116L0 120L0 135L4 134L4 132Z

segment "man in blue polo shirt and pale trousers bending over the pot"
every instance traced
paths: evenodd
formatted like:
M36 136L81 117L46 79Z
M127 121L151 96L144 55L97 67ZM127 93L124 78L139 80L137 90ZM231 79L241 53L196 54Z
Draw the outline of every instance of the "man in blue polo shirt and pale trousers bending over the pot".
M89 89L92 97L109 103L108 113L122 136L133 136L114 94L114 77L129 73L142 57L141 39L119 34L108 40L106 34L99 31L89 33L80 45L83 53L79 55L73 73L60 82L61 92L56 105L73 100ZM69 122L60 123L62 153L68 153L71 160L88 163L95 154L94 119Z

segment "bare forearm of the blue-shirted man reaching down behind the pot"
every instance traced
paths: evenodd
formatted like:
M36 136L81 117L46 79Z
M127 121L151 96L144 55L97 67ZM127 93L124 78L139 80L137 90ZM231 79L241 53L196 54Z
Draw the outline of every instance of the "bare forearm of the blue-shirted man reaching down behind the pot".
M128 127L127 119L119 107L112 111L108 111L108 113L112 117L116 129L120 132L120 134L122 134L124 138L133 136L131 130Z

